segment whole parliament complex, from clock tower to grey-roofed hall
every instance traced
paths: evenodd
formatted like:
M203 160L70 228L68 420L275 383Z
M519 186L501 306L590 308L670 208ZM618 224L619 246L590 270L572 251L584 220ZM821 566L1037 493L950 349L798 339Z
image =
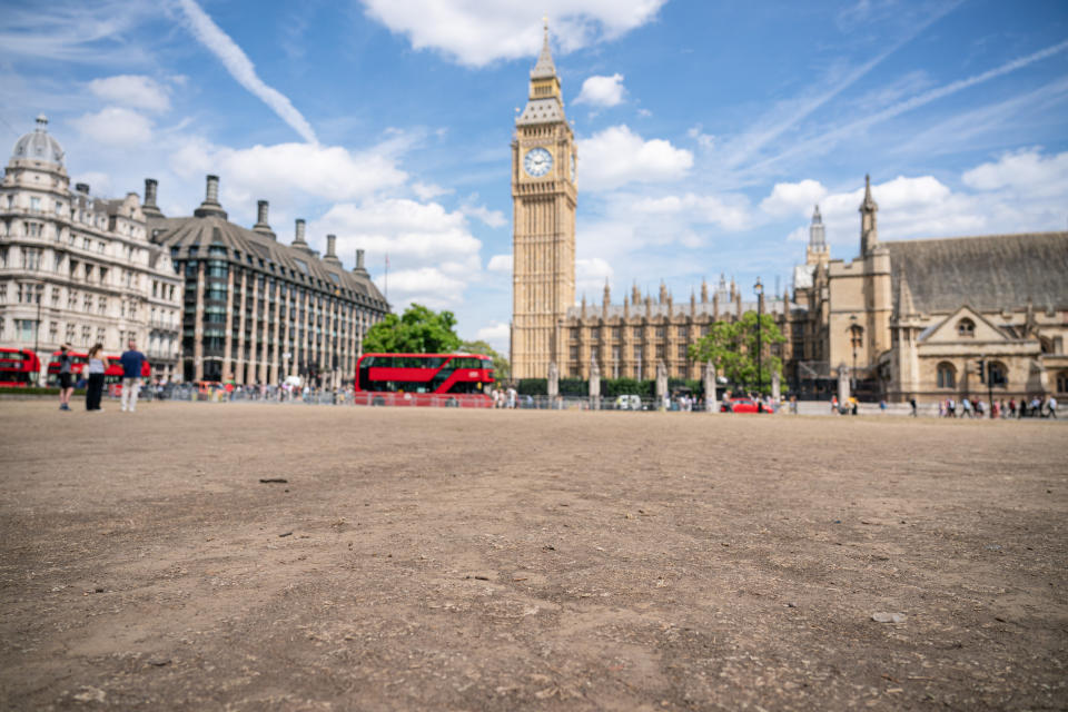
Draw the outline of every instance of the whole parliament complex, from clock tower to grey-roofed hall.
M785 336L769 352L801 397L829 395L842 372L870 399L1068 397L1066 231L881 241L866 179L859 255L831 259L817 206L782 295L743 299L721 276L678 301L661 283L655 297L634 287L613 304L605 285L600 304L576 304L576 160L546 27L512 141L514 378L544 378L555 363L563 377L596 364L603 377L647 379L662 362L696 379L688 347L759 308Z

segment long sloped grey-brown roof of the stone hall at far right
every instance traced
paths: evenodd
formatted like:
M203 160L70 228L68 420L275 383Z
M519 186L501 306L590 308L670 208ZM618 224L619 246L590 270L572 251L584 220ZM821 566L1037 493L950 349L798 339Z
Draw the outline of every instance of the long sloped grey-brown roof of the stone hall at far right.
M1068 307L1068 233L899 240L890 250L893 294L907 275L917 310Z

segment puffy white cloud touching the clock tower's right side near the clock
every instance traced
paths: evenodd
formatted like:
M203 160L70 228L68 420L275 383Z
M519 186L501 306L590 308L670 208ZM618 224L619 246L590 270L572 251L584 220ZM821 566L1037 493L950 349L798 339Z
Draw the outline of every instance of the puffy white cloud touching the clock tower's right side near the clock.
M624 126L613 126L578 140L578 181L583 190L610 190L629 182L664 182L682 178L693 154L663 139L644 140Z

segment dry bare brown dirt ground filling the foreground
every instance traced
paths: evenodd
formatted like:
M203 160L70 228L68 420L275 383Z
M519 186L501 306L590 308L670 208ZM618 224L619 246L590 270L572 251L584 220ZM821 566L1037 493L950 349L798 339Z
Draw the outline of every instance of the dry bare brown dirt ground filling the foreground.
M0 403L3 709L1068 706L1064 424L79 407Z

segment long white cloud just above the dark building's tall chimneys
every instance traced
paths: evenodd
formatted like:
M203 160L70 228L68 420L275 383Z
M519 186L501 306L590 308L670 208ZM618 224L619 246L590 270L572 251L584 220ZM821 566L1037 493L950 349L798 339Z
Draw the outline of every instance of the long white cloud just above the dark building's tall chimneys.
M275 144L235 149L190 140L171 156L171 167L182 178L217 174L225 199L251 202L275 197L279 204L288 191L298 190L316 199L353 200L407 179L396 159L382 147L353 152L340 146Z

